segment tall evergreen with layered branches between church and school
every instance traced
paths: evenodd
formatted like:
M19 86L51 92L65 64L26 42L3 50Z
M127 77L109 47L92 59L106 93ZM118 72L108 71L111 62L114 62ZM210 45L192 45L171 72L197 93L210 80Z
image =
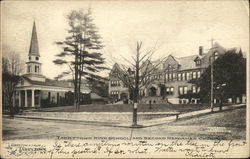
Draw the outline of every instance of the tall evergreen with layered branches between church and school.
M101 79L97 73L106 67L103 66L105 61L99 52L103 45L98 29L93 23L91 9L73 10L68 14L67 21L70 28L69 36L64 41L56 42L63 51L57 55L59 58L54 60L54 63L69 66L70 70L60 74L58 78L72 74L74 104L79 111L82 78Z

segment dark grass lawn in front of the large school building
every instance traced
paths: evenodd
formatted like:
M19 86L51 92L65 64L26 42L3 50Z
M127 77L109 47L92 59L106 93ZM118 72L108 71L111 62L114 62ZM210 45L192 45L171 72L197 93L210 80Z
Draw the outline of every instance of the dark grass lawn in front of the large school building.
M81 105L80 112L132 112L132 104L115 104L115 105ZM139 104L138 112L191 112L196 110L208 109L209 104L152 104L152 109L149 109L149 104ZM37 111L46 112L75 112L74 106L40 108Z

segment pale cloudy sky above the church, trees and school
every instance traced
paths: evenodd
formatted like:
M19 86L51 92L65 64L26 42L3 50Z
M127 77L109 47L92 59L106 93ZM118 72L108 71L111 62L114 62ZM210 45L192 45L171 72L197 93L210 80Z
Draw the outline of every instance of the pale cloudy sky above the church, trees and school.
M2 53L18 53L28 61L33 21L36 22L43 75L54 78L66 67L53 64L61 49L56 41L67 36L65 16L71 10L92 8L106 58L112 67L131 59L137 41L143 50L157 48L154 59L207 51L211 39L225 48L241 47L249 54L247 2L220 1L3 1ZM107 75L107 71L103 75Z

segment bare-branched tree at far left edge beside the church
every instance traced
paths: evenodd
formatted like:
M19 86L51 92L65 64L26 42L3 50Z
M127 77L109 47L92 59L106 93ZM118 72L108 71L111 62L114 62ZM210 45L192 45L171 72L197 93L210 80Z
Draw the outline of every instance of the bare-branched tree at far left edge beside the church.
M24 64L15 52L10 52L8 56L2 58L3 102L7 101L11 116L14 115L16 86L23 68Z

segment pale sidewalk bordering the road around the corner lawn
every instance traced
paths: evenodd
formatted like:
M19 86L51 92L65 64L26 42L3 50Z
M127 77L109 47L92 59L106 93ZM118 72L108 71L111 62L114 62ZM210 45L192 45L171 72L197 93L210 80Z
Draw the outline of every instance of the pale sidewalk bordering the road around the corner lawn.
M238 104L238 105L231 105L231 106L223 106L222 111L227 111L227 110L233 110L241 107L245 107L246 104ZM213 113L217 113L219 111L219 107L214 108ZM199 111L194 111L194 112L189 112L189 113L183 113L179 115L178 120L184 120L192 117L197 117L201 115L208 115L211 114L211 109L204 109L204 110L199 110ZM27 115L15 115L16 118L25 118L25 119L41 119L41 120L54 120L58 122L77 122L81 123L83 125L97 125L97 126L110 126L110 127L124 127L124 128L131 128L131 122L121 122L121 121L87 121L87 120L75 120L75 119L68 119L68 118L57 118L57 117L36 117L36 116L27 116ZM151 126L156 126L156 125L162 125L170 122L175 122L176 121L176 116L169 116L169 117L163 117L163 118L158 118L158 119L151 119L151 120L144 120L144 121L139 121L138 125L141 125L140 128L143 127L151 127Z

